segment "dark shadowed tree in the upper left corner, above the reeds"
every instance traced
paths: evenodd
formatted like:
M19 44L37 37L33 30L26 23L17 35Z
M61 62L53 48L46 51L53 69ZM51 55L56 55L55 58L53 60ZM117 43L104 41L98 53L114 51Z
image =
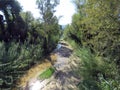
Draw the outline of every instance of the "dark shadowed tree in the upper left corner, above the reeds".
M24 21L20 16L21 6L16 0L1 0L0 10L4 13L7 29L3 30L2 40L16 39L24 41L27 36Z

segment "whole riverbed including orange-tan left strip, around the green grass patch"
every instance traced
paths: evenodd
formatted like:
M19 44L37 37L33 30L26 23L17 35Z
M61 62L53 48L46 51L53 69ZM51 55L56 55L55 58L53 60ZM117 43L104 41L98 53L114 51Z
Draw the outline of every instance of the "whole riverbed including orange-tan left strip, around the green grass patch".
M56 62L51 64L48 60L46 62L35 66L24 75L24 86L21 90L78 90L77 84L80 78L74 73L74 68L77 67L77 59L73 56L72 48L66 43L61 42L60 46L56 49L50 57ZM45 80L39 80L42 70L53 66L55 73ZM29 74L32 74L29 76ZM26 79L27 78L27 79Z

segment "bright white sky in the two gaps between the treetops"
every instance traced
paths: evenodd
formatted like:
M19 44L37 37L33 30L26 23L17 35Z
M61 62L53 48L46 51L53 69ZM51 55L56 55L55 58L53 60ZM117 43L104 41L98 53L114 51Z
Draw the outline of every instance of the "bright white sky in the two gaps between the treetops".
M36 0L18 0L23 7L24 11L31 11L34 17L39 17L39 10L37 9ZM55 15L57 17L62 16L59 20L60 25L70 24L72 21L72 15L75 13L74 4L71 0L60 0L60 4L56 7Z

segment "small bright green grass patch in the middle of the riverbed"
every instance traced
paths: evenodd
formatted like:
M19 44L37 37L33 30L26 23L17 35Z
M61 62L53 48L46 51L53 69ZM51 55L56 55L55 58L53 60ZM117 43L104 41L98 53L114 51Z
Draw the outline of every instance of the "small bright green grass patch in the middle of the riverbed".
M55 72L55 69L50 67L46 69L43 73L39 75L39 79L48 79L52 76L52 74Z

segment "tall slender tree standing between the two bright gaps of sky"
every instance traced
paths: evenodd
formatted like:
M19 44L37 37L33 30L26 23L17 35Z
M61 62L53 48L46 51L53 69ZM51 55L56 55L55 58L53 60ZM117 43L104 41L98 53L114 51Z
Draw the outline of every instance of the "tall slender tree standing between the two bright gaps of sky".
M42 29L44 31L44 50L47 54L55 48L59 40L59 25L58 19L54 16L55 7L58 5L58 0L37 0L38 9L40 10Z

